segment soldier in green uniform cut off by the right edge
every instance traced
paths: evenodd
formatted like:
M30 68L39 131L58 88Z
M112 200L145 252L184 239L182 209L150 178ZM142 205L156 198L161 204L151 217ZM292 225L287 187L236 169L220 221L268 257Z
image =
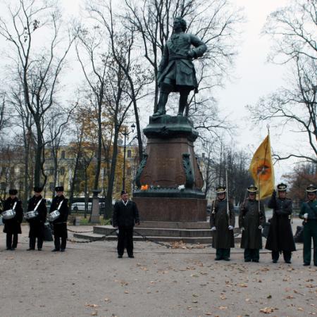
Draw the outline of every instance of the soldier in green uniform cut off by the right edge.
M317 187L306 188L308 201L302 204L299 218L304 219L304 266L311 264L311 238L313 238L313 264L317 266Z

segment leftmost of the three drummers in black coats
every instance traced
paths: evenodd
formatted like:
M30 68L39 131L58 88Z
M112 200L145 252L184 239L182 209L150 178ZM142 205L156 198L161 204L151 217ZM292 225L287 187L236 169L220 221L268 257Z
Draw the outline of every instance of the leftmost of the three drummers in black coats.
M4 201L4 211L13 209L15 216L11 219L3 219L4 232L6 233L6 249L14 250L18 246L18 234L21 232L21 223L23 220L22 202L16 195L18 190L10 189L9 195ZM13 238L13 239L12 239Z

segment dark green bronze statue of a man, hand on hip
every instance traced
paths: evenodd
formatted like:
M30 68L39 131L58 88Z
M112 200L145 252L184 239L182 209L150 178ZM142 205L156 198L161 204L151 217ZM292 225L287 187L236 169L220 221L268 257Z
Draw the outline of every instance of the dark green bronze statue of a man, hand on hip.
M189 92L193 89L197 92L198 82L192 59L203 56L207 46L195 35L185 33L186 27L184 19L175 18L173 34L164 46L159 65L157 78L160 97L157 111L153 116L166 113L165 106L170 92L180 92L178 116L182 116Z

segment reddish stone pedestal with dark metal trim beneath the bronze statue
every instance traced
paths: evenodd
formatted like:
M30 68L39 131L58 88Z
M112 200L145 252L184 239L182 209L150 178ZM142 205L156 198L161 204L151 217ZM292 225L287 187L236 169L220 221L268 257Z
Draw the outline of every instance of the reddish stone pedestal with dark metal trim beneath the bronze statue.
M150 117L143 131L147 153L133 192L140 220L206 221L204 180L194 153L198 132L192 121L183 116Z

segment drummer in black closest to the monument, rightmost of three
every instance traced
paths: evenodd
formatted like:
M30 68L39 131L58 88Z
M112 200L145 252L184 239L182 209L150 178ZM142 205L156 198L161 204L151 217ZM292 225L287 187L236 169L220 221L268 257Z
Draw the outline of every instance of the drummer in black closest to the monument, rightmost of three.
M58 210L60 216L52 221L54 226L54 246L55 248L52 250L63 252L66 249L66 241L67 241L67 218L68 218L68 199L64 197L64 187L57 186L55 187L56 197L54 197L51 202L51 207L49 209L49 213L52 211Z

